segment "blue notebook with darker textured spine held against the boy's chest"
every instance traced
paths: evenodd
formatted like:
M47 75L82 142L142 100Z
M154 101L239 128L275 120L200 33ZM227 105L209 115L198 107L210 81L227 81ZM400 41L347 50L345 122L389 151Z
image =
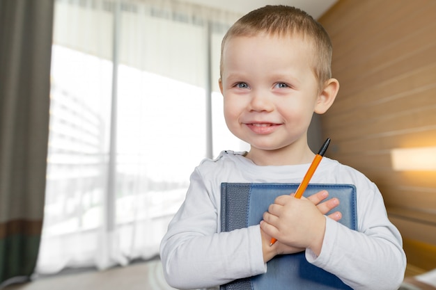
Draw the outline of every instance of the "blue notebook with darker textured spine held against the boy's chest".
M294 193L299 184L222 183L221 232L230 232L257 225L279 195ZM304 191L308 197L321 190L329 191L329 198L341 202L333 211L341 211L342 223L357 229L356 188L350 184L309 184ZM328 215L329 213L327 213ZM235 280L221 285L220 290L330 290L351 289L338 277L313 266L304 252L280 255L267 263L267 273Z

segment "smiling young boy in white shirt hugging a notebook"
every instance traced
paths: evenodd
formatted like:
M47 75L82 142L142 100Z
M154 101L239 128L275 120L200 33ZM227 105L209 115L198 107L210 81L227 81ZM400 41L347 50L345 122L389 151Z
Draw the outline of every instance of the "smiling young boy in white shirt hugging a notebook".
M224 36L219 88L228 129L249 152L221 152L191 176L186 200L161 244L167 282L195 289L267 271L275 255L304 250L306 259L352 289L398 289L405 271L400 233L386 214L375 184L360 172L324 158L311 179L355 184L358 229L324 214L338 200L283 195L260 225L220 232L221 182L299 183L313 160L307 129L313 113L332 105L339 83L331 78L332 45L318 22L288 6L245 15ZM299 220L299 223L293 223ZM277 243L270 245L271 238Z

